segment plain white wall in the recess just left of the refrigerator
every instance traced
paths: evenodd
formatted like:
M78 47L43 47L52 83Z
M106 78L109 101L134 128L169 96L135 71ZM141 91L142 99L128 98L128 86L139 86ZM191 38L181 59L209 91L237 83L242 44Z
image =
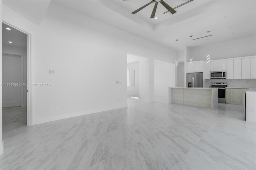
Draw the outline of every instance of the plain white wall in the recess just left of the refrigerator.
M155 60L155 95L168 96L168 87L174 87L175 68L173 63Z

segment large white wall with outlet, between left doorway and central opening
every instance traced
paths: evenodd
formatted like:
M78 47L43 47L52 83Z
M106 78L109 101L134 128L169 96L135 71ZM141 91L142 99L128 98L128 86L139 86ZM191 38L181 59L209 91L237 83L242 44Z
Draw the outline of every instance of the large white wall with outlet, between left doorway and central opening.
M54 2L39 26L6 6L3 20L32 34L33 83L52 83L32 88L32 124L126 107L127 53L173 61L170 49Z

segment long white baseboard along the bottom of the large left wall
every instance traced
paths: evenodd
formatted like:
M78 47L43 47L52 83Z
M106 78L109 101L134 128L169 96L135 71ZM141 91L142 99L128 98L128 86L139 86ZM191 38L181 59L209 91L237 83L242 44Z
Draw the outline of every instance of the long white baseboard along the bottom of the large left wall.
M40 124L40 123L51 122L51 121L58 121L58 120L61 120L61 119L77 117L77 116L82 116L82 115L88 115L88 114L98 113L98 112L103 112L103 111L110 111L110 110L120 109L120 108L124 108L124 107L127 107L127 104L125 106L117 107L117 108L96 109L96 110L93 110L93 111L69 113L69 114L59 115L59 116L55 116L55 117L47 117L47 118L44 118L44 119L36 119L36 120L33 121L33 125Z

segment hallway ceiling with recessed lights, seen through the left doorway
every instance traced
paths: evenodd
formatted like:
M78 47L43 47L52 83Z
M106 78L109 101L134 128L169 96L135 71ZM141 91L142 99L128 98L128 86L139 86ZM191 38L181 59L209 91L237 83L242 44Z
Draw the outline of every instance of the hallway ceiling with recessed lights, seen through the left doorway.
M10 28L11 30L6 30L6 28ZM15 30L12 27L2 24L2 41L3 45L26 48L27 35ZM8 43L9 41L12 43Z

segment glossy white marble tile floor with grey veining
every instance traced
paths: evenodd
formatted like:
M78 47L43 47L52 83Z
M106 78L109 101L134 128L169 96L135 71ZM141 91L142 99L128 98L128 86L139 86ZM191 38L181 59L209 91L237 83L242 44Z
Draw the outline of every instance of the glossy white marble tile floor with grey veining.
M256 125L241 105L218 109L128 98L128 107L26 126L3 109L0 169L256 169Z

